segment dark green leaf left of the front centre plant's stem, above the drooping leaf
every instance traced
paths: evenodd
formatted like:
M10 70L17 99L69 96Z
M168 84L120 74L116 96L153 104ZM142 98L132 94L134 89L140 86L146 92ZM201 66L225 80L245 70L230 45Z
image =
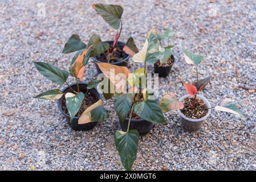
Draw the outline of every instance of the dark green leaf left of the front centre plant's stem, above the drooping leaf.
M127 118L134 96L135 94L125 93L114 98L114 108L121 122L124 122L124 119Z

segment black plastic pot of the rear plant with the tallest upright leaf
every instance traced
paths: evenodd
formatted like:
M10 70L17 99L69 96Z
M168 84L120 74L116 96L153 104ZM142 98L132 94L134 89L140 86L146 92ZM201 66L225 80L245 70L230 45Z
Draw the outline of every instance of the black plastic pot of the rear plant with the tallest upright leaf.
M113 41L106 41L106 42L109 43L109 44L113 44ZM125 43L123 43L123 42L117 42L117 45L120 45L120 48L123 49ZM123 54L123 57L125 57L123 60L118 61L118 62L115 62L115 63L109 63L109 64L113 64L113 65L117 65L117 66L121 66L121 67L128 67L128 63L127 63L127 62L128 62L128 60L129 60L129 58L130 58L130 55L128 55L128 54L125 53L124 51L123 51L122 54ZM96 57L92 57L92 60L94 60L94 62L96 62L96 63L103 63L102 61L97 60ZM102 73L102 72L100 71L100 68L98 67L98 65L97 65L96 63L94 63L94 64L95 64L97 73L98 73L98 74L99 74L99 73Z

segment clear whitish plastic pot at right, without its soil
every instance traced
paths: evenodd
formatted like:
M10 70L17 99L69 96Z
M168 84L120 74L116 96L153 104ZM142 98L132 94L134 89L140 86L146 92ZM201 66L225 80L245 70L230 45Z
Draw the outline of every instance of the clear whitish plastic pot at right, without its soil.
M182 102L185 98L188 98L188 97L190 97L189 94L181 97L179 101ZM203 100L208 108L211 107L210 103L208 102L208 100L206 100L205 97L198 96L198 95L197 95L197 97L200 98L201 100ZM208 109L208 113L200 119L191 119L191 118L186 117L183 113L181 113L181 110L178 110L178 114L180 114L180 118L181 118L182 129L185 131L188 131L188 132L196 132L196 131L200 130L202 123L204 123L205 119L209 117L210 111L211 111L211 109Z

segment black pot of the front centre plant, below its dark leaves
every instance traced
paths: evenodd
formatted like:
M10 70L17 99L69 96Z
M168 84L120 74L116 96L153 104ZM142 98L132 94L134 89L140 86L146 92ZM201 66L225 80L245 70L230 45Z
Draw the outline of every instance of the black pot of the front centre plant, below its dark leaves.
M124 122L121 122L119 119L119 122L120 122L121 129L123 131L127 131L129 118L125 118ZM129 129L138 130L140 135L145 135L149 133L149 131L152 129L153 126L154 126L153 123L148 122L145 119L131 119Z

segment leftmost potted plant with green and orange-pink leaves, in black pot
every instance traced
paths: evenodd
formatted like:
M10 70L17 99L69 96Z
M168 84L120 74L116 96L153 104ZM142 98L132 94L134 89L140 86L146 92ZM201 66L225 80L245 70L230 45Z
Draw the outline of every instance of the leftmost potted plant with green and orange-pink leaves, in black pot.
M67 84L67 87L62 90L46 91L35 98L57 100L58 109L74 130L90 130L97 122L108 118L100 94L96 89L88 89L87 84L82 82L91 51L91 47L84 48L82 53L72 61L69 72L48 63L34 62L38 71L52 82L58 85ZM70 75L75 77L75 84L67 83Z

